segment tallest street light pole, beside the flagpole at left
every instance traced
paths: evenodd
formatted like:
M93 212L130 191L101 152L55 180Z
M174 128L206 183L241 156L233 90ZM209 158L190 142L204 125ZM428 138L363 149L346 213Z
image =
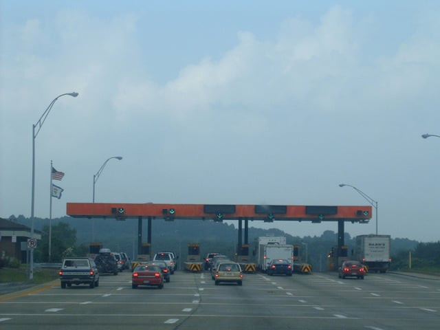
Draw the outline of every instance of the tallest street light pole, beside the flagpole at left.
M50 110L52 107L54 107L54 104L58 98L61 98L61 96L72 96L73 98L76 98L78 96L78 93L76 91L72 93L65 93L58 95L52 102L50 102L49 107L43 112L43 115L41 115L40 119L36 124L32 124L32 194L31 194L31 207L30 207L30 219L31 219L31 227L30 227L30 238L34 239L34 206L35 206L35 138L36 135L39 134L39 131L41 130L41 127L43 126L47 115L49 115ZM31 248L30 250L30 271L29 271L29 279L30 281L34 280L34 248Z

